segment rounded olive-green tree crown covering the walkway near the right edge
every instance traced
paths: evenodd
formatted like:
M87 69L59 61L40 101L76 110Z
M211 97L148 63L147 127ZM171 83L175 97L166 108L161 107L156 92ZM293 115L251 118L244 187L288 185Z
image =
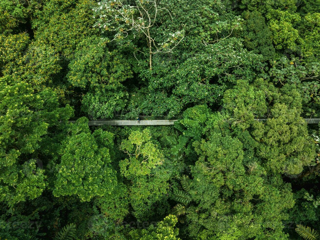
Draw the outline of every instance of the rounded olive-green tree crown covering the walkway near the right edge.
M315 158L307 123L295 109L276 104L265 124L257 122L252 135L260 142L258 155L272 171L298 174Z

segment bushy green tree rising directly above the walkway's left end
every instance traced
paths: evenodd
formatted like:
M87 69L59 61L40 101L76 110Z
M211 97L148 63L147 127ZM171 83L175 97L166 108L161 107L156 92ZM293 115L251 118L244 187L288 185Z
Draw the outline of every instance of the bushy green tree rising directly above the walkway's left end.
M122 82L132 77L130 64L117 51L109 52L97 36L77 45L69 63L68 82L89 91L83 95L81 108L93 118L112 118L123 110L128 98Z

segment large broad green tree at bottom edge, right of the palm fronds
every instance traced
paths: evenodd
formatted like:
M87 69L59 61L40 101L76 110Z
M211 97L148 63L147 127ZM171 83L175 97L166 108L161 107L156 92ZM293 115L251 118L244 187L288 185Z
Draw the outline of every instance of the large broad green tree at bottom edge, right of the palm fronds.
M199 160L191 170L196 204L187 210L188 233L200 239L287 239L282 221L294 205L290 184L279 175L269 179L247 144L215 132L194 143Z

